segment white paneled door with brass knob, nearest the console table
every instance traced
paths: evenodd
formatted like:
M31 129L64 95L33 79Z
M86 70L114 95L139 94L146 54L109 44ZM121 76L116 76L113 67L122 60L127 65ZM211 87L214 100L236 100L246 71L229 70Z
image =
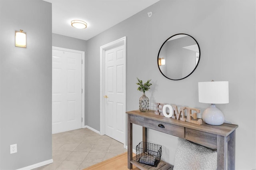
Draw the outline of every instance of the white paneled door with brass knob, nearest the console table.
M126 50L124 44L105 50L105 134L125 142ZM103 97L103 96L102 96Z

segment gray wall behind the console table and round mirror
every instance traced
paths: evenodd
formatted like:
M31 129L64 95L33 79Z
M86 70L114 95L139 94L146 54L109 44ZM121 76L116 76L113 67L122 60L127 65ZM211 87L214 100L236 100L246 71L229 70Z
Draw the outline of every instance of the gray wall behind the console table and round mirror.
M149 18L147 12L153 12ZM236 169L255 167L255 0L161 0L87 41L88 125L100 130L100 46L127 36L127 111L138 109L136 77L152 79L146 92L154 102L206 109L198 102L198 82L229 81L228 104L216 105L236 130ZM197 69L180 81L162 76L157 54L162 43L178 33L194 37L201 49ZM141 127L134 127L135 147ZM162 158L174 163L177 138L149 130L149 142L163 145Z

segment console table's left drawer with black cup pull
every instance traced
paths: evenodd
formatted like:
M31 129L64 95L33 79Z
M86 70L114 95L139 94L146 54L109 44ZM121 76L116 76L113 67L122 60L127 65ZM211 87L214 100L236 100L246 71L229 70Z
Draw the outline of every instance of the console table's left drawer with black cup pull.
M185 137L184 127L180 127L180 126L176 126L176 125L172 125L172 124L164 123L164 122L160 122L160 121L155 121L155 120L147 119L147 118L143 118L143 117L137 117L134 115L131 115L130 121L131 121L131 123L135 123L142 127L151 128L151 129L154 129L154 130L157 130L160 132L164 132L167 134L172 134L173 136L177 136L180 138ZM163 126L161 126L161 125L163 125Z

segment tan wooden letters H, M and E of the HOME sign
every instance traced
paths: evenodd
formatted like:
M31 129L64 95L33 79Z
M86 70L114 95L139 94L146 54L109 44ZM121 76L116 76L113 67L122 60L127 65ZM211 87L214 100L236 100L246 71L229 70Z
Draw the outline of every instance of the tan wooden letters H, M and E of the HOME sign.
M155 104L156 104L155 114L164 116L163 109L164 109L164 105L166 104L163 104L163 103L155 103ZM178 107L176 105L172 105L172 109L173 109L173 116L171 117L172 119L177 119L184 122L190 122L197 125L202 125L202 119L197 119L197 114L200 113L200 109L190 108L190 107L180 107L180 110L178 110ZM186 117L184 112L185 110L187 115ZM192 113L192 111L194 111L194 113ZM193 119L191 119L191 117Z

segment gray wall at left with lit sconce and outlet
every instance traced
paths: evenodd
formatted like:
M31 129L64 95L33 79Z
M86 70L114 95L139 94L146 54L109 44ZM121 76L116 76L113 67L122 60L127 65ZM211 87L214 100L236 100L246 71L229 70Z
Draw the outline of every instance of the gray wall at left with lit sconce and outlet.
M52 5L1 0L0 22L0 169L7 170L52 159ZM27 48L15 47L20 29Z

